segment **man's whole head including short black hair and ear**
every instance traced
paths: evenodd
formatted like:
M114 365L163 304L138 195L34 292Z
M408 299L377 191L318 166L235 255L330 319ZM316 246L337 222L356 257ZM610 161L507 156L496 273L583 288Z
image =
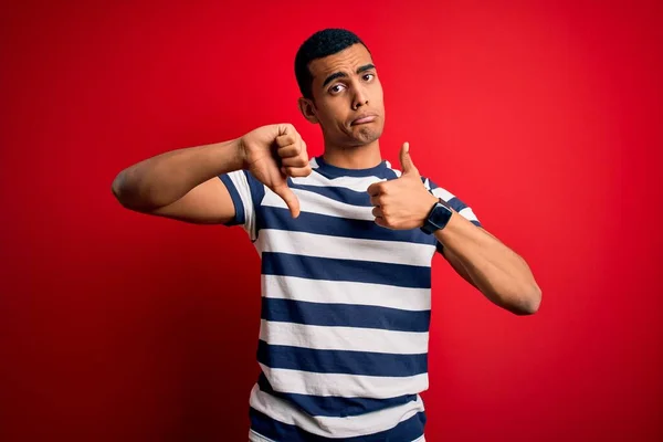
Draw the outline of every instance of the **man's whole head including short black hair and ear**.
M299 109L320 124L325 143L364 146L380 137L382 86L370 51L357 35L343 29L316 32L297 51L295 75L303 95Z

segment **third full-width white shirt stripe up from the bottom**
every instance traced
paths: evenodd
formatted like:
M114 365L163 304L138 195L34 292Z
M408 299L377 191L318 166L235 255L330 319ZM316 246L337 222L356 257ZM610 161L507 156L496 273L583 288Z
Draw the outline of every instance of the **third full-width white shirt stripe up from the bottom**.
M293 323L260 322L260 338L271 345L354 350L393 355L428 352L427 332L396 332L377 328L329 327Z

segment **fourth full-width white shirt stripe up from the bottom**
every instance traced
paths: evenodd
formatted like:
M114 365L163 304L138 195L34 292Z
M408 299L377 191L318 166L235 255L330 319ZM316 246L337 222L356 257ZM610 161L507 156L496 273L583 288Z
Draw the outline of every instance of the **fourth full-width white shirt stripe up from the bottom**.
M375 305L421 312L431 309L431 290L348 281L317 281L296 276L261 275L262 294L280 299L323 304Z

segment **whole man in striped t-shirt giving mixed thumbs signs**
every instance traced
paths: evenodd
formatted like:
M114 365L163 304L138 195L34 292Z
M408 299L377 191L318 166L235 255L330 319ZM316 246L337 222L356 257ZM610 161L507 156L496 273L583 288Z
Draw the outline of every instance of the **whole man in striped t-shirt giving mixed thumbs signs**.
M435 251L488 299L533 314L525 261L460 199L380 156L382 86L357 35L328 29L295 57L304 117L325 151L309 159L290 124L179 149L122 171L131 210L242 225L262 259L262 372L251 441L423 441L431 260Z

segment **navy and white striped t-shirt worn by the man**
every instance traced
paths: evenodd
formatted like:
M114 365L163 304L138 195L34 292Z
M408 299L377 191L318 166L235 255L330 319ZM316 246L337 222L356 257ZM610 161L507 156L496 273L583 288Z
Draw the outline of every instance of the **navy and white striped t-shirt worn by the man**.
M250 396L251 441L423 441L431 261L419 229L375 223L367 192L400 177L388 161L343 169L311 160L288 178L285 202L250 172L220 176L261 256L262 313ZM480 225L472 209L422 178L435 197Z

